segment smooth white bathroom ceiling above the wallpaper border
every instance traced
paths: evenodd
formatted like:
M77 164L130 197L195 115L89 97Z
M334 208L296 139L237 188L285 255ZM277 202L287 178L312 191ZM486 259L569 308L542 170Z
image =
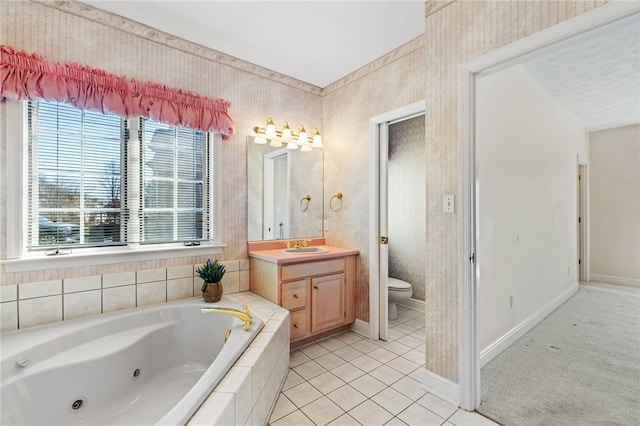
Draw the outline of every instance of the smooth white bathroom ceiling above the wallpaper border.
M318 87L418 37L425 27L420 0L84 3Z

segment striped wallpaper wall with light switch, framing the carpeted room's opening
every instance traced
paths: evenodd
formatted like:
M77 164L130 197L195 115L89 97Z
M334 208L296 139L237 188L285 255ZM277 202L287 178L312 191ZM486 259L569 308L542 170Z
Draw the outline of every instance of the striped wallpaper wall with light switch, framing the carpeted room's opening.
M426 367L458 381L457 214L442 196L458 191L459 66L607 3L585 1L451 1L426 4L427 252Z

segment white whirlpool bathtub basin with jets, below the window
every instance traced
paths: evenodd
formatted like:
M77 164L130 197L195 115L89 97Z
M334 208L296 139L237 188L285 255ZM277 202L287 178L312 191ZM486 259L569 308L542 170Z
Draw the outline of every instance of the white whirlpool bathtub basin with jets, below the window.
M0 424L185 424L263 326L201 312L211 306L189 299L2 333Z

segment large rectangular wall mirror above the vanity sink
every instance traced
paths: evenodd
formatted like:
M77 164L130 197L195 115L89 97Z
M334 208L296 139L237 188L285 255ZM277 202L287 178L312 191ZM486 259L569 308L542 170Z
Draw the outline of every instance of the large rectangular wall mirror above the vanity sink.
M323 151L272 147L253 139L247 136L248 240L321 237Z

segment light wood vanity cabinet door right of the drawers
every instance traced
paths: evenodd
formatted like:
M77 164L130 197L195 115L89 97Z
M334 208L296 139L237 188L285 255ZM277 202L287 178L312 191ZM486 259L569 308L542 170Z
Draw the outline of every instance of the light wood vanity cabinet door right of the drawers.
M344 274L311 279L311 332L317 333L344 324Z

